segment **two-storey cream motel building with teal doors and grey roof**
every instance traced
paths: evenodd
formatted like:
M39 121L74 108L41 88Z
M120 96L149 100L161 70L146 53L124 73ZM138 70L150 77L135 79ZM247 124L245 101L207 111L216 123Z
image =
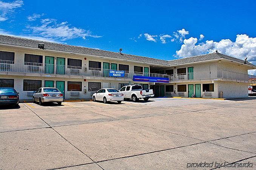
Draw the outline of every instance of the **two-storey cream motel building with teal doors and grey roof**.
M138 83L155 97L248 97L256 66L221 53L165 61L0 35L0 87L31 100L40 87L56 87L65 99L91 99L100 88Z

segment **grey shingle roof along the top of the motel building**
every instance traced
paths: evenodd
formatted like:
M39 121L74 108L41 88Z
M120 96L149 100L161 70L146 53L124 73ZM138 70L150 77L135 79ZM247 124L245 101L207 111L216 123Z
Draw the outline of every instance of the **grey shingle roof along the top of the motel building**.
M103 56L103 57L109 57L109 58L114 58L114 59L138 61L138 62L145 62L145 63L149 63L149 64L165 65L165 66L187 64L187 63L191 63L191 62L207 61L207 60L220 59L220 58L225 58L225 59L229 59L232 61L244 63L244 61L241 59L233 58L233 57L230 57L227 55L223 55L221 53L210 53L210 54L205 54L205 55L192 56L192 57L167 61L167 60L149 58L149 57L144 57L144 56L130 55L130 54L125 54L125 53L117 53L117 52L110 52L110 51L105 51L105 50L90 49L90 48L86 48L86 47L70 46L70 45L66 45L66 44L52 43L52 42L48 42L48 41L20 38L17 36L0 35L0 44L21 46L21 47L31 47L31 48L38 49L38 43L45 44L45 50L57 50L57 51L69 52L69 53L80 53L80 54L87 54L87 55ZM251 63L247 63L247 64L256 67L255 65L253 65Z

